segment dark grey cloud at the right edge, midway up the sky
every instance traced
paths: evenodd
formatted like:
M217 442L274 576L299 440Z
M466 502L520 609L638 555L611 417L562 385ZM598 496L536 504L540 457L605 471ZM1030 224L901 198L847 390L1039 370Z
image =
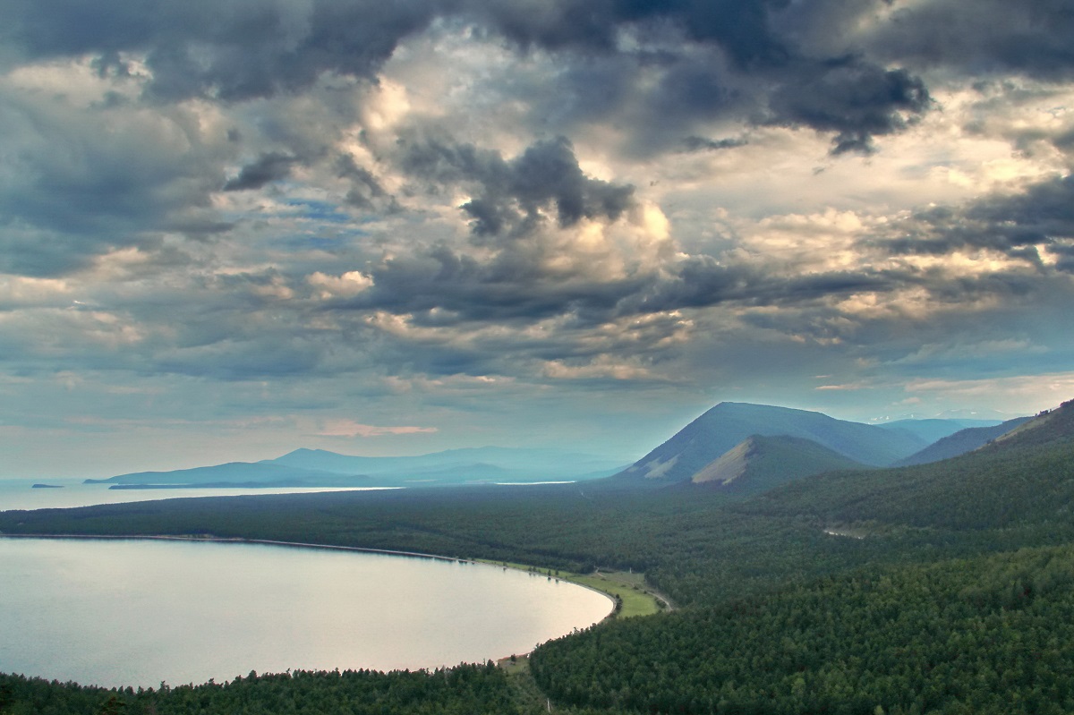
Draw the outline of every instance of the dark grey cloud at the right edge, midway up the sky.
M1066 254L1074 238L1074 176L1056 177L1024 192L990 196L968 206L919 211L901 225L902 235L882 242L896 253L943 256L960 249L987 248L1040 263L1037 246ZM1069 269L1061 261L1060 269Z

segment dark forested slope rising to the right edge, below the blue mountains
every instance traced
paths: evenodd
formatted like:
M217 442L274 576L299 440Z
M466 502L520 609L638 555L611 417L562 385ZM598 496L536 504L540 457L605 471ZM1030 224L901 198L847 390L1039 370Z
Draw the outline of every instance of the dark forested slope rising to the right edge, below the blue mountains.
M956 530L1066 524L1074 509L1074 400L950 459L818 475L741 508L825 524Z

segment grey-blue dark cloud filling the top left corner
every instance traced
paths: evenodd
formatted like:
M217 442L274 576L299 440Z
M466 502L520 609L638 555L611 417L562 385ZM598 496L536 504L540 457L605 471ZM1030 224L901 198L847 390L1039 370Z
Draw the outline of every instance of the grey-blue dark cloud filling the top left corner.
M144 53L160 99L244 100L294 91L324 72L372 76L401 38L440 10L424 2L13 0L0 40L31 59Z

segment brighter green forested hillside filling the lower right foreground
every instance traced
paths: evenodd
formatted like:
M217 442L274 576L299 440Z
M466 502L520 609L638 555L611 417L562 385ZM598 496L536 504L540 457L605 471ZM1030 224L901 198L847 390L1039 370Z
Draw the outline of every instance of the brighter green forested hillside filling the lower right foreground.
M557 701L659 713L1074 711L1074 548L867 569L542 645Z

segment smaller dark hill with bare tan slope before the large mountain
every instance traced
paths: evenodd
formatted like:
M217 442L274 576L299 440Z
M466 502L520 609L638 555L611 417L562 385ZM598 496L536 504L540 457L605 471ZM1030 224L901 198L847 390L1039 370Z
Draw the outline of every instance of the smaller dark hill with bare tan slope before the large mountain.
M802 477L861 467L860 462L809 439L753 435L702 467L690 482L738 494L757 494Z

